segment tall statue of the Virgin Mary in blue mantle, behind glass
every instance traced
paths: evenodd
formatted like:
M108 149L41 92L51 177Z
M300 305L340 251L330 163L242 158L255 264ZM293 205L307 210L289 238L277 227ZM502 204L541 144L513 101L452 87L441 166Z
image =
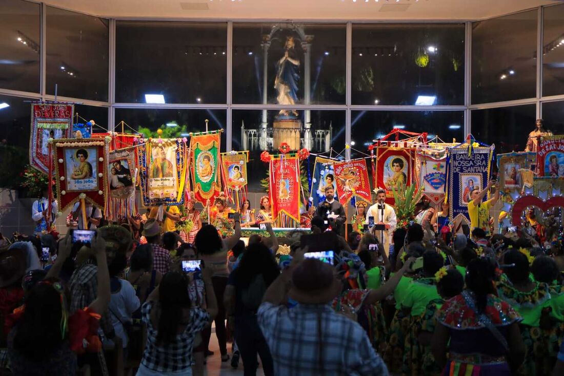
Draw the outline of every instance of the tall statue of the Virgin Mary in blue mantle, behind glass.
M276 63L276 79L274 88L277 91L278 104L296 104L298 101L299 59L294 50L294 37L287 37L284 45L284 56ZM298 116L295 110L291 113ZM288 110L281 110L280 115L288 116Z

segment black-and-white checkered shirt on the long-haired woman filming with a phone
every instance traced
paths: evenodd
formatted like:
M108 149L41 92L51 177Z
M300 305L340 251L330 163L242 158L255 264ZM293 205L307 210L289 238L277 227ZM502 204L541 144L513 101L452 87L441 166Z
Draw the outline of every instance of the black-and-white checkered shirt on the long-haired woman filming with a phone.
M184 333L178 334L173 343L165 347L157 345L158 328L153 327L151 308L153 302L146 302L141 308L142 320L147 324L147 345L141 364L156 372L180 372L191 369L192 345L196 334L206 326L210 316L201 308L192 308Z

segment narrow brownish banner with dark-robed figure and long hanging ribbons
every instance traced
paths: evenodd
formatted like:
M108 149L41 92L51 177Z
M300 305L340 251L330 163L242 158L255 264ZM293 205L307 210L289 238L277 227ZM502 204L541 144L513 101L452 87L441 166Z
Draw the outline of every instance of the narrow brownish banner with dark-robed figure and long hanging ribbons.
M135 216L135 148L124 148L109 153L108 200L104 213L110 221Z

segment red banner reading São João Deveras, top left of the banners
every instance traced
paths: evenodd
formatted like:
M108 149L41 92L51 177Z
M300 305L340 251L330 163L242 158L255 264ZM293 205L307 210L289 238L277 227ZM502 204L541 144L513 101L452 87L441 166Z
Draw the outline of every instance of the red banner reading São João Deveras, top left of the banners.
M72 130L74 105L32 104L32 124L29 138L29 164L49 173L49 140L68 139Z

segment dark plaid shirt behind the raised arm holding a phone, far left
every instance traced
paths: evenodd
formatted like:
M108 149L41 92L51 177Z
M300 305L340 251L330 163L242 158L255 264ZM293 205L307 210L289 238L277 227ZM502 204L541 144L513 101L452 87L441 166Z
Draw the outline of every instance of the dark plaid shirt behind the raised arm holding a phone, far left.
M69 280L70 286L70 315L79 309L90 306L98 294L98 267L94 260L85 261L74 270ZM106 309L100 319L100 328L105 335L113 332L109 309Z

